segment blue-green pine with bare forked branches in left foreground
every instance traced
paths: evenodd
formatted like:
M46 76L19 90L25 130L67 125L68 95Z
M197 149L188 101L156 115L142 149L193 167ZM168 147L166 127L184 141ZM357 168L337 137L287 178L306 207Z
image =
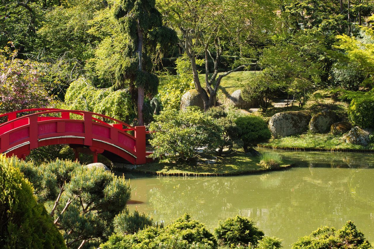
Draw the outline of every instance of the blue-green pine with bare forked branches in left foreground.
M54 215L59 230L68 247L103 241L113 231L114 217L130 199L129 183L98 167L78 167L70 177Z

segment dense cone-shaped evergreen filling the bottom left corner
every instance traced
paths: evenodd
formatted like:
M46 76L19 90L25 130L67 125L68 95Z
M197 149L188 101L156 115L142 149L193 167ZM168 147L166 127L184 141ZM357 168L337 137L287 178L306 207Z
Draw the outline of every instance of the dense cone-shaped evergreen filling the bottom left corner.
M66 248L45 207L33 196L33 187L13 166L0 158L0 247Z

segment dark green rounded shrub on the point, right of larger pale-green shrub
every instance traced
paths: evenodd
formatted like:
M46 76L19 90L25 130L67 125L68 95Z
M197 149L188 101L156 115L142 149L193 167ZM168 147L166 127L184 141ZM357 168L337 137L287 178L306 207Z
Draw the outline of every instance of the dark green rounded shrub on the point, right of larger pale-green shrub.
M239 117L236 119L235 123L242 132L241 139L243 141L244 151L248 151L248 147L255 146L258 142L271 137L270 130L261 117L252 115Z

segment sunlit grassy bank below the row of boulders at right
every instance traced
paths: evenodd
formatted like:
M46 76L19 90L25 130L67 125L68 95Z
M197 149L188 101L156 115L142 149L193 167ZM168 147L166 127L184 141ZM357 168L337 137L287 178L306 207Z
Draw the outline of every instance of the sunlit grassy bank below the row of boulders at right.
M279 139L270 139L262 145L283 148L318 148L324 150L374 150L374 143L367 146L348 144L343 136L334 136L330 133L304 133L298 136L288 136Z

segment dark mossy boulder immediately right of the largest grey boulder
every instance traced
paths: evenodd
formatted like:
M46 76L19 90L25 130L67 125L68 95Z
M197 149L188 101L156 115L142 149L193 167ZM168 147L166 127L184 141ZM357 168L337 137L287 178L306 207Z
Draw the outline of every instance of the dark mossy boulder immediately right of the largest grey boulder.
M333 111L325 109L312 117L309 122L309 130L315 133L325 133L335 123L338 116Z

